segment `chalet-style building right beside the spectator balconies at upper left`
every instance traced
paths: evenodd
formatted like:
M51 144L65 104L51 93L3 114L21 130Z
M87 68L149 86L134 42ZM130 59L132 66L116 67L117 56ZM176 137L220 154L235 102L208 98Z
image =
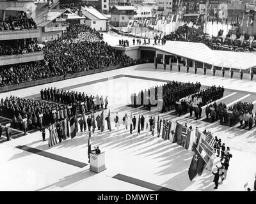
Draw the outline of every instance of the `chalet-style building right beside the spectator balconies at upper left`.
M58 8L58 5L58 2L50 5L47 3L36 4L35 22L40 31L38 42L47 43L48 41L56 40L67 30L66 13L71 12L65 8Z

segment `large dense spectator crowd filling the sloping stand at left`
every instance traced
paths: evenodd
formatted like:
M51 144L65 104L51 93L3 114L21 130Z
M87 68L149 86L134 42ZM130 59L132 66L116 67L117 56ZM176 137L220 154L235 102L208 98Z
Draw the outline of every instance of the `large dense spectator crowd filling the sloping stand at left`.
M86 34L81 34L86 33ZM44 61L4 66L0 69L0 85L20 84L40 78L55 77L136 61L102 41L102 35L87 25L70 25L61 38L42 48Z

